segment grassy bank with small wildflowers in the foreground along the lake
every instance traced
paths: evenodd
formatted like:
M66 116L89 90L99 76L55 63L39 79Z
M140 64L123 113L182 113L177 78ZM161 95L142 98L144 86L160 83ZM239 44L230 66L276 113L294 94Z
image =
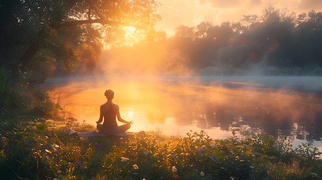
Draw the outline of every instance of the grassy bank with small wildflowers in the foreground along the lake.
M322 179L320 152L310 144L293 148L286 137L79 137L67 130L95 128L73 118L17 119L0 119L3 179Z

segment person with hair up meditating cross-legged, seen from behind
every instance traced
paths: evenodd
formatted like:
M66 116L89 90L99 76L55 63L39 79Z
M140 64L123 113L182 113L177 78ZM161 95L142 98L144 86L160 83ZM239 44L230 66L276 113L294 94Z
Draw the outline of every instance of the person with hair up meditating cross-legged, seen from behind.
M112 100L114 98L113 90L106 90L104 95L108 98L108 102L101 105L100 115L97 123L97 130L105 135L108 134L118 134L124 133L131 128L132 121L128 122L121 118L120 110L118 105L113 104ZM103 124L100 124L103 121ZM118 126L116 122L116 117L119 122L125 123L124 125Z

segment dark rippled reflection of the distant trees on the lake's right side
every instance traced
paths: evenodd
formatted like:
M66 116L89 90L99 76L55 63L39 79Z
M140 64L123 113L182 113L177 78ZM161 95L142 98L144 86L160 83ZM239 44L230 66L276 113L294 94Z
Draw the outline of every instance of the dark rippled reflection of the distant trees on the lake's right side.
M176 112L175 124L195 125L202 129L219 127L227 131L239 131L241 127L248 126L258 133L287 135L296 139L306 139L308 142L321 141L320 103L293 102L294 106L289 106L287 102L278 106L275 103L278 102L235 102L226 106L205 103L202 108Z

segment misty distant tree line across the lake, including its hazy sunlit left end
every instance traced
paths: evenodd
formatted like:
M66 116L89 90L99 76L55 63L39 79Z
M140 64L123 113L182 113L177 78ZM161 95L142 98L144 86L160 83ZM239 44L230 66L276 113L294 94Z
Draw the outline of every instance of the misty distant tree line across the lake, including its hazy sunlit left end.
M170 38L111 49L109 53L132 53L127 56L135 61L135 57L164 51L160 57L145 59L149 62L159 58L160 74L169 74L184 65L196 74L321 75L322 13L311 10L297 15L274 7L262 12L243 15L236 23L180 25Z

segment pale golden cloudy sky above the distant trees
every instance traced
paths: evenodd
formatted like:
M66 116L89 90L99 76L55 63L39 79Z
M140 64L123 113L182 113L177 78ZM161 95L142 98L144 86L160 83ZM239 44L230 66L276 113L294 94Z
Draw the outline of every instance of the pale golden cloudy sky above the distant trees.
M322 0L159 0L162 21L157 30L168 34L179 25L194 26L203 21L220 25L222 22L238 22L242 15L262 14L263 9L273 6L287 8L290 13L322 11Z

